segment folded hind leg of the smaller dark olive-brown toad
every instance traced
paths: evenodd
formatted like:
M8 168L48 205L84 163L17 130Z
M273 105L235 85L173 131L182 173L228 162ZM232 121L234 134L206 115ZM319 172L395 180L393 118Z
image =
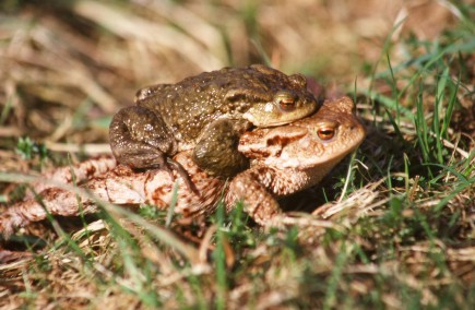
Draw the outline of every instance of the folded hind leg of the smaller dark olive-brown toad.
M110 148L117 162L133 169L176 170L195 191L190 177L169 156L177 153L177 141L165 121L141 106L118 111L109 127Z

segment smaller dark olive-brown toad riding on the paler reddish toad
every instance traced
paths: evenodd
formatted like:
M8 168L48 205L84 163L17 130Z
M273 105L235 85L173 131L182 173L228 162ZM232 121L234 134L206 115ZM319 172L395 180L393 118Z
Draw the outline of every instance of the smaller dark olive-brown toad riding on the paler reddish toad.
M289 123L317 108L300 74L261 64L224 68L140 90L135 105L115 115L110 146L120 164L180 174L186 172L171 156L194 148L200 168L229 177L248 166L237 150L245 131Z

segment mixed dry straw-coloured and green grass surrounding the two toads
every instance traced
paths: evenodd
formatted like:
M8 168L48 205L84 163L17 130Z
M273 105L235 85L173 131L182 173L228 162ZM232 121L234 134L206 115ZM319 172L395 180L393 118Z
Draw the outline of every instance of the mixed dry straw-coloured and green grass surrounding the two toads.
M105 144L110 115L136 88L270 61L326 83L328 96L352 94L367 126L349 163L284 202L331 225L265 231L241 205L189 223L153 206L104 204L73 224L33 226L39 239L3 241L13 259L0 265L0 307L475 306L473 5L448 2L446 14L426 13L438 17L424 28L430 19L411 27L413 15L382 27L385 9L364 0L163 3L1 4L1 207L22 193L15 174L93 155L78 147L70 159L63 150ZM417 5L405 9L417 15ZM367 8L373 16L364 20ZM439 25L430 39L420 35Z

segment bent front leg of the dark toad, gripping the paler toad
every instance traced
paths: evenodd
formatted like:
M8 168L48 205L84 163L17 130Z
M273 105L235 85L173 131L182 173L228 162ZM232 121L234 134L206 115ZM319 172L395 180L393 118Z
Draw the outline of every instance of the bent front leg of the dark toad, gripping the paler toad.
M210 175L233 177L249 167L249 159L238 152L239 138L250 123L219 119L206 129L193 150L193 162Z

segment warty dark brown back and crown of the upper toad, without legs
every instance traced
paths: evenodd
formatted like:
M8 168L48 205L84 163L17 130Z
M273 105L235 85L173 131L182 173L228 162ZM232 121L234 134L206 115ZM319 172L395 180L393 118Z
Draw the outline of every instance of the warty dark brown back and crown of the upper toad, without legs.
M282 91L297 98L297 107L309 105L314 98L306 87L304 76L264 65L224 68L141 90L135 103L161 115L177 141L194 142L213 120L241 119L251 107L273 103Z

